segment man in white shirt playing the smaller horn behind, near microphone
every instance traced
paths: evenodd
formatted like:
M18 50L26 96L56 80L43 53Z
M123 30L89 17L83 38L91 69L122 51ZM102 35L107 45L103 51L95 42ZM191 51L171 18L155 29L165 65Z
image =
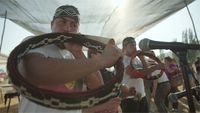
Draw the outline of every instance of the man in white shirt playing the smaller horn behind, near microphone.
M124 113L134 113L134 112L149 112L149 106L146 98L145 87L143 78L140 78L139 73L136 71L131 71L131 57L137 53L136 49L136 41L133 37L126 37L123 40L123 64L124 64L124 77L122 83L127 85L130 89L135 89L137 94L140 94L140 99L136 99L134 96L128 96L121 102L122 112ZM141 60L141 61L140 61ZM134 58L132 61L132 65L136 69L143 68L142 62L144 62L144 57ZM159 65L156 65L152 68L143 69L143 75L149 74L153 72L155 69L159 68Z

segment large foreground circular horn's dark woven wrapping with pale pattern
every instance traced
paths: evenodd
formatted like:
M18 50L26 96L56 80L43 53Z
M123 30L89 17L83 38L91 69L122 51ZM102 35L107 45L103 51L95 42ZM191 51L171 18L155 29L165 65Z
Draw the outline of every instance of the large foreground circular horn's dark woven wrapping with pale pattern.
M49 33L28 39L10 53L7 70L16 90L29 100L43 106L56 109L81 109L88 108L119 96L123 76L123 63L120 58L114 65L116 75L104 86L85 92L61 93L39 88L28 83L19 73L19 61L31 50L49 44L75 42L97 52L102 52L106 43L95 41L94 36L72 33Z

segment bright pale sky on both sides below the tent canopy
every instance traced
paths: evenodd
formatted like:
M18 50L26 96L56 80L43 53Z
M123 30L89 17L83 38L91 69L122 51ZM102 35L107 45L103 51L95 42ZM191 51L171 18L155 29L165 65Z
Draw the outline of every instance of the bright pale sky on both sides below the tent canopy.
M200 11L200 0L194 1L188 7L195 23L197 37L200 37L200 13L198 12ZM3 23L4 19L0 18L0 36L2 35L3 31ZM136 41L139 43L141 39L149 38L155 41L166 42L174 41L177 39L177 41L181 42L182 32L189 28L193 30L192 22L187 9L184 8L141 34L136 38ZM1 53L9 55L9 53L14 49L16 45L18 45L25 37L30 35L32 35L32 33L26 31L15 23L6 20L6 29L4 33Z

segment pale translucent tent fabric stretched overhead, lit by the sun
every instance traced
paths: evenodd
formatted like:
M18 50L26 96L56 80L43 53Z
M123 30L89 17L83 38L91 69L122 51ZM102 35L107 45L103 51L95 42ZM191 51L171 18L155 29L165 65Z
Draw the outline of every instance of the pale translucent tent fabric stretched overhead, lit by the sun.
M35 35L51 32L55 9L64 4L80 11L80 33L114 38L137 37L194 0L0 0L5 17Z

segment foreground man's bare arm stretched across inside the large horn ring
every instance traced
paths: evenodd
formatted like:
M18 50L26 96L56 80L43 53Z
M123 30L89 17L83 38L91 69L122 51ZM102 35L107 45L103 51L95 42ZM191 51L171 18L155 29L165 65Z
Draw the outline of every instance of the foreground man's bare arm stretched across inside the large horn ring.
M86 77L101 68L110 67L121 56L121 50L112 44L108 44L101 55L91 59L56 59L30 53L24 56L19 70L32 84L64 84Z

